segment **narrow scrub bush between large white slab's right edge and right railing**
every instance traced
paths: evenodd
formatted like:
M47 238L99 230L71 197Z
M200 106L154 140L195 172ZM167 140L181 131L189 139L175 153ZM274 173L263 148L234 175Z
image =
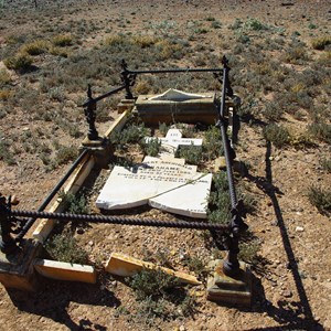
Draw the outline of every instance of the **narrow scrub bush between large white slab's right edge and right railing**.
M213 175L212 191L209 199L207 217L211 223L228 224L231 218L231 201L226 172Z

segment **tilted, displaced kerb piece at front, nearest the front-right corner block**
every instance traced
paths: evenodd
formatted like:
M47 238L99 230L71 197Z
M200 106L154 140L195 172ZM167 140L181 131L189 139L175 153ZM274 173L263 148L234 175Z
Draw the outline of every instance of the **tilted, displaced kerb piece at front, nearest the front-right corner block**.
M162 271L164 271L168 275L177 277L180 281L191 285L201 285L202 282L196 279L196 277L192 275L188 275L180 271L174 271L172 269L168 269L164 267L158 267L152 263L147 263L130 256L126 256L119 253L113 253L110 255L109 260L106 264L105 270L107 273L121 276L121 277L128 277L132 276L136 273L142 270L142 268L147 269L156 269L160 268Z

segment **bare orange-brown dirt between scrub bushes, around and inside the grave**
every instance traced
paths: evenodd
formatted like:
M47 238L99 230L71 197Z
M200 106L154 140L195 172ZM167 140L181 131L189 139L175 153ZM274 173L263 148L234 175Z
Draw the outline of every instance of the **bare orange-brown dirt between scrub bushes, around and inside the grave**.
M60 8L55 8L54 3L44 3L43 7L41 2L38 1L40 4L38 9L25 3L26 8L13 10L4 1L7 6L1 13L6 12L6 15L0 18L1 49L4 50L8 46L10 35L29 35L31 31L38 38L42 38L51 28L56 25L63 28L68 22L81 22L85 19L97 25L102 22L99 24L102 28L85 31L76 49L98 47L99 42L106 36L119 32L131 32L131 35L135 35L149 29L156 33L159 29L164 36L164 33L169 31L173 33L171 29L174 29L178 38L188 39L188 31L192 32L195 29L195 32L193 31L195 36L190 41L194 49L193 55L192 53L190 55L193 56L193 63L189 55L190 60L182 56L170 63L209 66L209 62L201 62L200 52L210 53L210 56L211 54L220 56L226 50L229 54L234 50L233 45L238 42L235 38L227 36L227 34L233 34L227 26L233 24L235 19L242 21L248 18L257 19L279 28L280 33L288 39L293 33L299 33L301 40L307 43L312 38L324 35L328 31L330 33L330 1L72 1L70 4L64 1ZM19 1L12 3L19 3ZM282 3L293 6L282 6ZM222 28L220 30L211 28L214 20L206 20L206 18L220 21ZM177 25L171 28L170 23L173 21ZM312 25L308 29L309 24ZM46 25L47 31L43 30ZM169 31L161 31L162 29L169 29ZM281 32L281 29L285 32ZM71 32L71 30L66 31ZM256 33L249 34L252 41ZM265 40L260 35L258 38L259 44L267 43L268 36ZM282 51L269 52L268 56L278 56ZM75 52L75 49L71 52ZM258 57L258 55L256 53L247 65L254 64L255 56ZM53 60L47 56L51 55L36 57L35 65L41 68L46 62L49 65ZM314 60L320 56L320 53L310 51L309 56ZM0 58L1 65L3 65L2 60ZM74 61L77 61L77 57L73 58ZM65 63L60 61L56 65L55 68L61 70ZM145 58L143 65L148 66L148 60ZM162 61L156 62L154 65L162 66ZM303 65L287 64L292 71L298 72L309 65L309 62ZM245 73L245 67L242 71ZM104 76L107 74L108 72L102 73ZM32 88L36 95L42 95L39 89L40 78L35 78L33 73L21 76L10 71L10 75L11 90L15 90L17 95L20 89L26 90L28 87ZM74 72L68 75L75 76ZM23 79L25 79L24 84ZM102 83L98 86L98 79L94 76L83 83L86 85L87 81L95 83L98 92L103 90L103 85L109 84L107 81L99 79ZM324 82L329 82L330 85L330 76L329 81L327 77ZM82 110L77 109L75 104L84 96L84 84L66 95L62 104L64 106L61 108L61 111L65 114L74 114L71 115L74 118L71 118L72 124L82 132L85 132L86 126ZM110 85L116 86L113 81ZM236 85L241 86L239 83ZM248 87L246 85L238 92L243 92L247 97L249 94L244 92L245 88L249 89L249 83ZM250 93L254 94L252 89ZM256 97L259 98L259 104L264 105L270 99L270 94L265 93ZM330 120L330 92L324 96L325 98L325 121L328 122ZM47 104L44 111L58 111L58 103L54 95L44 102L41 104L42 107ZM70 135L58 117L55 128L49 120L39 119L39 114L35 116L35 111L32 110L33 103L29 104L26 109L19 102L15 105L8 105L7 99L2 98L1 107L6 109L6 116L0 118L0 134L1 137L11 138L8 148L17 154L14 156L15 162L12 164L0 159L0 191L4 195L15 193L22 201L20 204L22 209L34 210L70 166L58 164L46 169L47 162L42 162L40 157L49 150L32 149L31 152L30 149L24 148L20 137L25 135L24 132L32 132L33 138L36 132L38 139L42 141L56 137L61 143L74 147L79 146L83 137ZM14 107L15 111L9 110L10 107ZM110 113L108 119L99 126L99 130L103 132L115 117L116 113ZM103 276L94 286L45 281L41 290L33 293L7 290L1 287L1 329L331 330L331 223L328 215L322 215L317 207L312 206L307 196L309 188L314 183L330 188L330 172L320 163L322 158L330 160L330 145L317 141L312 147L276 148L274 145L266 143L263 138L260 118L257 116L257 119L242 124L237 147L238 159L250 164L249 175L243 180L245 189L257 201L255 213L248 214L246 220L260 242L259 263L253 267L254 299L250 309L222 307L209 302L205 300L204 287L201 286L195 289L196 306L192 316L174 320L148 321L146 317L137 312L132 291L121 281ZM310 120L307 113L303 113L301 117L286 114L281 118L281 122L293 128L295 131L300 130L306 126L306 121ZM33 146L28 138L28 143ZM20 141L23 147L18 146ZM52 153L54 157L53 149ZM106 173L102 174L106 175ZM158 212L149 209L139 213L158 216ZM88 250L92 261L96 263L106 260L114 250L141 257L148 254L146 252L168 249L173 255L174 264L183 254L196 255L204 259L212 256L205 247L205 238L200 233L188 233L183 229L137 229L90 225L84 234L77 235L77 239Z

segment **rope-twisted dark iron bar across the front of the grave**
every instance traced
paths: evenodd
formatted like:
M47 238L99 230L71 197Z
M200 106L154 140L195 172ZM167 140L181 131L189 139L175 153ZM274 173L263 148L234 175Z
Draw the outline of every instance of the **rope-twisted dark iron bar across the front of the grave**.
M106 216L106 215L49 213L49 212L33 212L33 211L21 211L21 210L11 211L11 215L20 216L20 217L49 218L49 220L57 220L57 221L74 221L74 222L83 221L89 223L215 229L224 233L228 232L227 226L221 224L202 223L202 222L143 220L143 218L128 218L128 217Z

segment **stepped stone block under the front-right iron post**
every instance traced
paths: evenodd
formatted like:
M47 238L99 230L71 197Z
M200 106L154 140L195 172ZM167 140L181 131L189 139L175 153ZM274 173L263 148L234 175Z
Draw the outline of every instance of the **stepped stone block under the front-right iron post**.
M235 277L223 273L223 260L217 259L210 264L214 274L207 280L207 300L225 305L250 306L252 274L249 265L239 261L241 271Z

